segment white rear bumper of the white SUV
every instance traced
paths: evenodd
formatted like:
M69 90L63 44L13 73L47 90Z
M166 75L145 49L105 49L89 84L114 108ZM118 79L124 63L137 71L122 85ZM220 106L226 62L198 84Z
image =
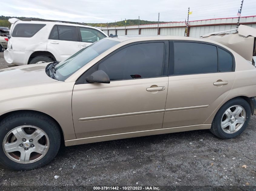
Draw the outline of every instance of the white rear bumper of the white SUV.
M4 58L8 64L26 65L28 64L28 59L32 53L33 51L28 50L21 51L6 49L4 51Z

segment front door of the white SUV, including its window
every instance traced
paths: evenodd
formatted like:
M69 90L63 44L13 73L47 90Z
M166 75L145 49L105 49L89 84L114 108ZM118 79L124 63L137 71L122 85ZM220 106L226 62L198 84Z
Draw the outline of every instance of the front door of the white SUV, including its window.
M86 28L86 27L79 27L79 39L80 39L81 49L105 37L106 36L103 33L99 32L98 30Z

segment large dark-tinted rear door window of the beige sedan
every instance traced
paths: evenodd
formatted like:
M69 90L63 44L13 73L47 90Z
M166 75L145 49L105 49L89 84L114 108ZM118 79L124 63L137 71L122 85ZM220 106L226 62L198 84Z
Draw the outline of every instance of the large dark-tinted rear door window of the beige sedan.
M174 75L218 71L217 47L203 43L174 42Z

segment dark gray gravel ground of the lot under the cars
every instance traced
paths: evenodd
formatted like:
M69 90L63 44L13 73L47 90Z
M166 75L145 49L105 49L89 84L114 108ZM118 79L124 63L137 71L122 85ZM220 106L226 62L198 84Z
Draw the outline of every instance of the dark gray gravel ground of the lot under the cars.
M0 53L0 68L5 67ZM199 130L62 146L57 157L39 169L13 171L0 165L0 186L169 185L184 190L189 189L180 186L256 190L255 122L253 116L245 132L231 140Z

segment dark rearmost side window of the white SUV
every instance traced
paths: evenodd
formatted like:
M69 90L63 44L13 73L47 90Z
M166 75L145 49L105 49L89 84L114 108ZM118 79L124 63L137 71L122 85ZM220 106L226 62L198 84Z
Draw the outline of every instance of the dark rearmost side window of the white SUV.
M20 23L12 31L12 37L33 37L45 24Z

